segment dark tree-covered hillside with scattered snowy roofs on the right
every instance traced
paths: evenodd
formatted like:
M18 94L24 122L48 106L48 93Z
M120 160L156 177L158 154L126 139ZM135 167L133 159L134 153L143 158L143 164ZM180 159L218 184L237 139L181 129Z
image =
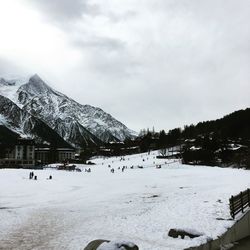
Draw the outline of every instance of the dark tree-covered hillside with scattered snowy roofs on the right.
M142 131L140 149L181 145L183 163L250 166L250 109L236 111L221 119L175 128L166 133Z

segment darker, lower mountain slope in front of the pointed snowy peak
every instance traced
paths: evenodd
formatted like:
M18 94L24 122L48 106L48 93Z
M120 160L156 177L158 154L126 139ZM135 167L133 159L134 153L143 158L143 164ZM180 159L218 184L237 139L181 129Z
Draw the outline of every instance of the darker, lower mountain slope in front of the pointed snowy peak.
M37 142L49 142L58 146L69 146L43 121L22 110L10 99L0 95L0 125L22 137L34 138Z

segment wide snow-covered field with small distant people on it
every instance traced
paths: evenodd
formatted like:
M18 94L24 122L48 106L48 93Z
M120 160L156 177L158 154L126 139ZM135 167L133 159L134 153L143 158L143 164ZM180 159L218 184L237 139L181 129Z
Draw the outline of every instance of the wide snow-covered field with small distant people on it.
M225 232L234 223L228 199L249 187L250 171L185 166L157 154L78 166L90 173L37 170L37 181L29 170L0 170L0 249L75 250L121 239L140 250L180 250ZM173 239L171 228L202 236Z

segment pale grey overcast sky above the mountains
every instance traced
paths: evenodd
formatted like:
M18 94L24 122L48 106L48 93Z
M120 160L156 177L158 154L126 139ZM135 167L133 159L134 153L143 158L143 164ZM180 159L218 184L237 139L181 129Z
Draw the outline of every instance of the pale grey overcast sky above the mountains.
M249 0L1 0L0 74L168 130L250 106L249 23Z

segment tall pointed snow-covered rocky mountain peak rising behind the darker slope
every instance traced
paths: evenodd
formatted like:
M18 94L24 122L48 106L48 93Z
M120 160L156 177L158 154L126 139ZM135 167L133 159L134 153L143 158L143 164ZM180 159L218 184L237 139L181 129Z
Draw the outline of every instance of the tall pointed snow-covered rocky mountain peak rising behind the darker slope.
M136 135L102 109L81 105L55 91L38 75L14 80L0 78L0 94L74 146L122 141Z

